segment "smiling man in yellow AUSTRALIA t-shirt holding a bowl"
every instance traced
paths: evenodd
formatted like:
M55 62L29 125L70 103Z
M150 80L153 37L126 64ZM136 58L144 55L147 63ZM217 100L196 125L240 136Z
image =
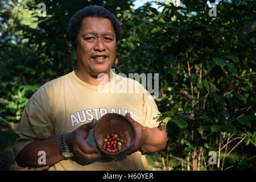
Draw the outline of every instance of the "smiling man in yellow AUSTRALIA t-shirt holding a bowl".
M167 135L153 119L159 111L148 92L106 92L120 82L135 82L110 71L121 39L117 18L104 7L88 6L72 16L69 34L78 68L47 82L28 101L16 131L16 162L49 170L147 169L139 150L162 150ZM123 114L135 127L135 142L123 156L102 156L93 140L93 127L106 113ZM38 162L39 151L46 154L45 164Z

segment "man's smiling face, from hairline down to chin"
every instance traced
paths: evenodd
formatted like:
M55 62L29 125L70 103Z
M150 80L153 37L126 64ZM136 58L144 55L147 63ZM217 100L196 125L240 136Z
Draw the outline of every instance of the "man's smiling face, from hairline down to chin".
M110 73L115 59L116 37L109 19L86 17L77 35L77 64L79 70L93 77Z

